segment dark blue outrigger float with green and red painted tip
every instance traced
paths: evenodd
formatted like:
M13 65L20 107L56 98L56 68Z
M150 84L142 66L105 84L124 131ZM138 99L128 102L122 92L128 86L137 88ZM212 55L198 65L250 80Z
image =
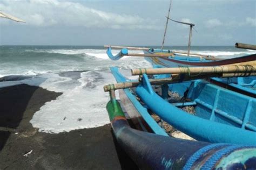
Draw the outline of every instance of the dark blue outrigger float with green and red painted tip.
M249 150L244 148L248 146L232 144L217 144L217 147L211 147L215 144L176 139L131 129L120 104L112 97L107 104L107 111L119 145L130 155L140 169L181 169L184 166L192 167L189 169L200 169L201 167L210 169L217 166L228 167L231 165L228 164L228 161L233 159L246 166L256 167L252 161L255 159L256 147L249 146ZM210 166L213 167L205 165L205 162L214 154L228 147L239 148L239 151L228 152L227 155L212 161ZM198 151L200 154L197 154Z

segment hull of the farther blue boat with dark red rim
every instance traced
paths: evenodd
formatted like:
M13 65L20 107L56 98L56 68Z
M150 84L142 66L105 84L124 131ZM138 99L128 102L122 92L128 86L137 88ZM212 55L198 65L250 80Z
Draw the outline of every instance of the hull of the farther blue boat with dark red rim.
M154 54L153 51L160 52L160 50L149 49L145 51L145 54ZM226 60L210 61L202 58L191 58L189 56L174 55L168 58L145 58L151 62L153 66L159 67L197 67L197 66L219 66L219 65L230 65L233 63L245 62L247 64L255 65L256 54L241 56L239 58L232 58ZM218 86L225 87L230 90L237 91L239 93L256 97L256 76L247 77L228 77L228 78L217 78L212 77L209 79L211 83L217 84Z

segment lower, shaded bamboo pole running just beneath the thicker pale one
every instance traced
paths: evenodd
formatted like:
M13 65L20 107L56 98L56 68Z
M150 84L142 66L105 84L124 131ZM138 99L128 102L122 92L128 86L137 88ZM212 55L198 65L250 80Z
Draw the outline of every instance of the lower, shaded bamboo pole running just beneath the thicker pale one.
M223 73L214 73L214 74L203 74L203 75L176 74L176 75L172 75L172 77L170 77L170 78L149 79L149 81L150 81L151 85L160 85L160 84L177 83L180 81L205 79L205 78L210 78L210 77L243 77L243 76L255 76L255 75L256 75L256 73L224 73L224 74ZM139 84L140 84L139 81L108 84L108 85L104 86L104 91L133 88L133 87L137 87Z

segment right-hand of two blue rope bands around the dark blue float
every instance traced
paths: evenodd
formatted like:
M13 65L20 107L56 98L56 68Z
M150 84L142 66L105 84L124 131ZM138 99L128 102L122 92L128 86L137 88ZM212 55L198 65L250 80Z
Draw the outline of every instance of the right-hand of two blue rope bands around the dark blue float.
M248 148L253 146L247 146L247 145L231 145L227 146L225 148L222 148L221 150L215 152L208 160L205 162L205 164L201 167L202 170L206 169L212 169L216 162L218 162L224 155L227 155L235 150L239 150L242 148Z

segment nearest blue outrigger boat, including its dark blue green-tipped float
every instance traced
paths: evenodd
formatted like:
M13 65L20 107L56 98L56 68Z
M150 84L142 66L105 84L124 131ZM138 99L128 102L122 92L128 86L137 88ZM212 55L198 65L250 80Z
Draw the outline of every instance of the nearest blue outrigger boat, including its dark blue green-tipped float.
M236 67L241 70L239 74L245 69L247 73L256 71L255 66L249 71L244 66ZM163 78L160 74L167 77L170 73L166 71L169 68L164 69L133 69L133 75L142 75L139 81L134 81L112 67L118 83L104 86L105 91L110 91L107 111L114 134L134 162L142 169L256 168L256 99L197 80L186 82L189 88L183 102L172 103L169 90L173 82L180 81L180 75L172 72L171 78ZM231 67L221 69L226 70L221 73L227 74L224 76L234 72ZM194 69L191 70L194 74ZM153 74L154 79L144 72ZM217 72L211 76L217 76ZM114 94L117 89L120 103ZM195 113L181 110L184 106L193 106ZM131 128L124 112L136 129ZM170 137L154 121L152 113L198 141Z

